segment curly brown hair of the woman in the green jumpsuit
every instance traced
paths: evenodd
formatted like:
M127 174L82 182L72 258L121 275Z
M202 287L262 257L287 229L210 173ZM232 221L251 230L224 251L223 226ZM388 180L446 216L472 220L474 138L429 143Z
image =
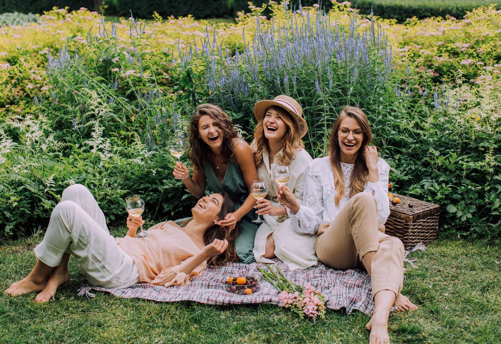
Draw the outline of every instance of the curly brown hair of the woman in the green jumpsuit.
M203 160L210 154L210 148L198 137L198 121L200 117L210 116L222 130L222 150L221 158L225 164L233 160L232 139L238 137L236 129L233 127L228 115L216 105L200 104L196 107L191 116L189 124L189 149L188 157L193 163L196 171L203 170Z

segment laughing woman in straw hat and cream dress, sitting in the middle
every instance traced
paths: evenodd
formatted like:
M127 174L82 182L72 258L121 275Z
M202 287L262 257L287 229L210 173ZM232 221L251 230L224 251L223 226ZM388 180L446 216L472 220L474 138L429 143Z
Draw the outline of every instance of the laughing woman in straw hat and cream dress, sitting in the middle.
M291 179L287 185L298 202L302 201L305 171L312 161L301 139L308 131L302 114L299 103L288 96L263 100L254 106L258 125L252 148L258 177L268 188L268 196L255 207L266 222L256 233L254 258L262 263L273 263L272 258L280 258L291 270L305 269L317 263L316 237L291 229L290 211L278 203L278 185L273 175L277 165L289 165Z

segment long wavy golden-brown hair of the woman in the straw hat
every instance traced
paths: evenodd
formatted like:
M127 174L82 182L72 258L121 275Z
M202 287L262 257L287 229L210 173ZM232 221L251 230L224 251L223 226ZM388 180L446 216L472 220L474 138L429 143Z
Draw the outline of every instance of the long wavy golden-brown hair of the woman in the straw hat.
M303 140L299 136L299 127L298 123L291 118L291 115L287 111L285 111L280 106L271 106L270 108L274 108L275 111L278 112L280 118L287 125L287 133L284 137L284 155L280 158L279 163L282 165L289 165L291 160L296 157L296 152L304 148L305 145ZM266 110L268 112L268 110ZM263 121L266 118L266 113L263 116L263 119L259 121L256 126L256 130L254 131L254 144L256 146L256 151L254 152L254 161L256 162L256 166L261 164L263 161L263 151L265 147L268 145L268 140L265 137L265 129L263 127Z

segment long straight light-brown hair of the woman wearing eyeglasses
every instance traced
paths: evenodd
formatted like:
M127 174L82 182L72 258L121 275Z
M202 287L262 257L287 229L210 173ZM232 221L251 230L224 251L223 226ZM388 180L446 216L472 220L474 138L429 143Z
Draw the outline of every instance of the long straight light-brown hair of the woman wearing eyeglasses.
M349 197L351 198L353 195L364 191L365 183L369 179L369 170L367 169L363 155L365 147L372 141L372 131L369 126L369 120L359 108L347 106L341 110L338 118L334 122L329 139L329 155L331 157L332 171L334 172L334 187L336 189L336 197L334 198L336 206L339 206L339 201L341 201L341 198L343 198L345 194L344 175L341 170L341 147L339 146L338 129L341 121L346 117L355 119L360 125L360 128L364 131L362 145L357 152L355 166L350 176Z

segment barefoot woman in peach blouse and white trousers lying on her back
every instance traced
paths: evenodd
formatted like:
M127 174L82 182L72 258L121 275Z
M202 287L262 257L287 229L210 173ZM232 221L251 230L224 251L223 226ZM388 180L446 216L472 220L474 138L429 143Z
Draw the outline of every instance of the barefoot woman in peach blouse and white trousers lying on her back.
M81 184L72 185L64 190L61 202L52 211L44 240L35 247L35 267L6 292L18 296L41 291L35 300L49 301L56 289L70 280L70 253L95 286L187 285L207 263L221 266L238 261L238 228L230 231L218 225L218 220L231 212L234 206L229 195L214 193L198 200L191 209L193 219L183 228L173 221L161 222L149 229L149 236L136 238L137 228L144 221L129 215L127 235L114 238L90 191Z

